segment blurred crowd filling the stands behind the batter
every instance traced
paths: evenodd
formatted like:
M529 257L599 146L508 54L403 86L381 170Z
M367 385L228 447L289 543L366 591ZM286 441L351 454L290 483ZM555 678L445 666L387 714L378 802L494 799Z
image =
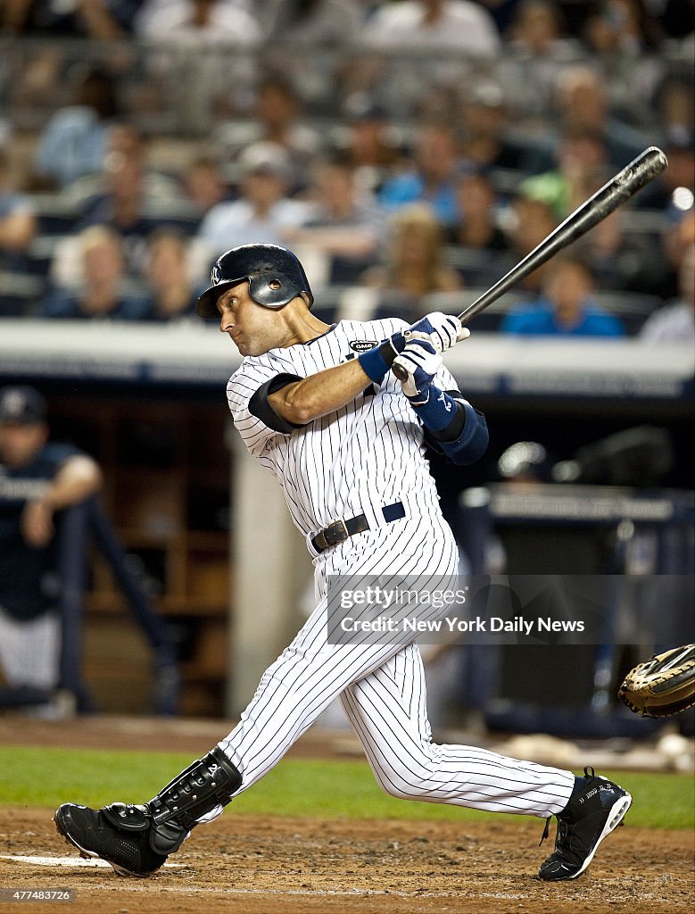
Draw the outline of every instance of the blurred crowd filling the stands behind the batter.
M5 0L0 316L193 319L212 261L263 241L324 319L410 320L658 145L664 174L478 325L692 343L694 24L692 0Z

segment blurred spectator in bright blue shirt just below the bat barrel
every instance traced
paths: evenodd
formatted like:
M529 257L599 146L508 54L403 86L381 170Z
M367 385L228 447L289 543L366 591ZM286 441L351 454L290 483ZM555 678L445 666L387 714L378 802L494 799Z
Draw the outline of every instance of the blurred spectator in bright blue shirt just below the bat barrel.
M581 260L565 256L553 261L538 301L505 314L501 333L525 336L624 336L625 327L592 301L591 273Z

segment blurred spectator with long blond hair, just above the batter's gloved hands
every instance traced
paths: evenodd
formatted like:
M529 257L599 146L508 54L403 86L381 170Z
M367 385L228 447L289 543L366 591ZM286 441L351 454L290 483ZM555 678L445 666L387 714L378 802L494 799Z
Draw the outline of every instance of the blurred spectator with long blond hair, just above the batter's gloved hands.
M364 271L363 282L387 293L389 302L400 302L399 316L416 319L422 296L454 292L463 285L443 254L442 227L432 207L410 204L392 216L384 262ZM390 307L385 301L384 306ZM389 313L395 314L395 309Z

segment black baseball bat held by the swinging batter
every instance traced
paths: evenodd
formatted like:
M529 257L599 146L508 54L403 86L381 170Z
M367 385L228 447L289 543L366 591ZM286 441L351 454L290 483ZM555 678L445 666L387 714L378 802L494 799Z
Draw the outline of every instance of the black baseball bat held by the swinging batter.
M541 243L527 254L523 260L520 260L516 266L513 266L508 273L487 292L483 292L469 304L468 308L458 315L458 319L464 326L469 323L470 319L475 317L492 302L496 302L500 296L507 292L511 286L528 276L534 270L537 270L543 263L550 260L558 250L563 250L572 244L578 238L598 225L602 219L614 212L617 207L622 206L634 197L637 191L648 184L657 175L669 165L666 155L658 146L649 146L644 152L637 155L629 165L626 165L622 171L612 177L603 187L595 192L592 197L585 200L584 203L577 207L573 213L563 220L557 228L553 228L550 235L542 239ZM393 371L400 380L405 380L405 371L395 365Z

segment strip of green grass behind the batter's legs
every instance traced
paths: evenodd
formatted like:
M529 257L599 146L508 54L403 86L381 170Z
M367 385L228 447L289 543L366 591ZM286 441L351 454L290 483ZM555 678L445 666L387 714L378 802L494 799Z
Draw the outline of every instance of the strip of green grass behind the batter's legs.
M180 753L0 747L0 805L144 802L190 762L190 756ZM618 781L635 798L629 824L695 827L692 778L632 771L601 773ZM459 822L498 818L443 803L395 800L377 787L364 761L294 759L281 761L235 800L234 813Z

